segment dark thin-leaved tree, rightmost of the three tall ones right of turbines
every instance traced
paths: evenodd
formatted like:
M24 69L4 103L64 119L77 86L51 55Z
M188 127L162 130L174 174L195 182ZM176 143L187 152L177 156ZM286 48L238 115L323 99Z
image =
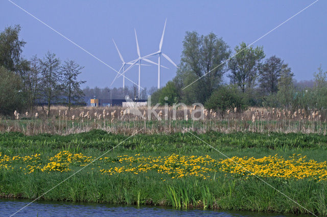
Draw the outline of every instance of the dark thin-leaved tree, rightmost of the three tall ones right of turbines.
M261 68L259 87L267 95L278 91L278 79L281 76L284 61L281 58L272 56L265 61Z

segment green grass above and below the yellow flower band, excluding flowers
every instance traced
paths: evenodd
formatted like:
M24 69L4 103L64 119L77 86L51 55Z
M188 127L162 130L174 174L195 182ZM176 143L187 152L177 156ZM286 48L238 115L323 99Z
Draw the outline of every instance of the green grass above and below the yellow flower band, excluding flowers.
M327 137L301 133L230 133L198 134L202 140L228 156L307 155L309 159L326 159ZM39 134L26 136L10 132L0 134L0 152L9 156L41 154L54 156L62 150L100 156L127 139L127 135L109 134L101 130L66 136ZM224 158L219 152L189 133L137 134L106 156L134 155L163 156L210 155ZM168 205L174 207L203 207L266 212L308 213L275 189L255 177L211 174L212 180L196 177L171 179L169 175L148 172L143 174L101 175L90 165L72 178L58 185L41 199L124 204ZM24 174L18 170L0 170L0 195L35 199L51 187L69 177L70 172ZM167 181L162 181L162 179ZM311 180L283 180L263 178L310 211L327 215L327 183Z

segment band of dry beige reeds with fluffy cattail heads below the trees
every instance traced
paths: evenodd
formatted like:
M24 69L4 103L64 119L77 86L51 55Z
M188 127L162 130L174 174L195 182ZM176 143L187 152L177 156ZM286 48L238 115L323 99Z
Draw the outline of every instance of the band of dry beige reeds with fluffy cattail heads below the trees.
M158 107L150 115L148 107L79 107L67 111L64 106L52 108L50 114L41 108L33 114L15 112L0 118L0 132L18 131L26 135L50 133L66 135L102 129L115 134L144 134L193 131L219 132L301 132L326 134L327 110L289 111L275 108L250 108L215 112L199 107Z

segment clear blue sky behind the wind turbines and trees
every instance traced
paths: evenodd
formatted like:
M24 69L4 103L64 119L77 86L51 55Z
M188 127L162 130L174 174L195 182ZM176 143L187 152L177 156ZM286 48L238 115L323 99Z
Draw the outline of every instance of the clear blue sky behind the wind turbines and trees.
M48 24L60 36L10 1ZM74 60L84 66L79 79L86 80L82 88L110 87L122 62L112 39L118 45L125 62L137 58L134 28L141 56L158 50L164 28L162 45L177 65L180 63L182 41L186 31L200 35L214 33L233 48L242 41L250 44L277 25L306 8L314 1L22 1L1 0L0 31L10 25L21 26L20 38L25 40L22 55L44 57L50 51L61 61ZM276 55L288 63L296 80L313 79L321 65L327 70L327 1L320 0L290 19L253 46L263 46L266 58ZM96 58L98 58L98 60ZM157 62L157 58L150 58ZM163 58L162 58L163 59ZM99 61L100 60L100 61ZM106 65L107 64L107 65ZM176 75L176 68L162 60L161 86ZM157 66L143 66L141 86L157 86ZM138 67L126 72L137 83ZM225 77L225 82L228 82ZM112 87L122 87L120 77ZM126 86L132 86L126 79Z

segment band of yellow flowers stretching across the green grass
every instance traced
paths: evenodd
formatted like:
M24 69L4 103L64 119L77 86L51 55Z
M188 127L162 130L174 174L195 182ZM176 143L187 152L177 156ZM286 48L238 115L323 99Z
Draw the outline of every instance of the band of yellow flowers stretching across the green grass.
M25 168L20 167L26 173L34 171L41 172L67 172L72 167L83 167L97 159L86 156L82 153L73 154L69 151L61 151L55 156L43 160L39 154L31 156L8 156L0 153L0 170L15 169L14 164L25 164ZM254 157L231 157L227 159L213 159L209 155L186 156L172 154L168 156L133 156L122 155L116 157L101 157L94 167L101 174L141 174L154 172L169 175L172 179L183 177L211 178L216 172L225 172L233 176L260 176L282 179L310 179L316 181L327 180L327 162L317 162L307 160L306 156L300 154L288 158L274 156ZM92 170L95 168L92 168Z

